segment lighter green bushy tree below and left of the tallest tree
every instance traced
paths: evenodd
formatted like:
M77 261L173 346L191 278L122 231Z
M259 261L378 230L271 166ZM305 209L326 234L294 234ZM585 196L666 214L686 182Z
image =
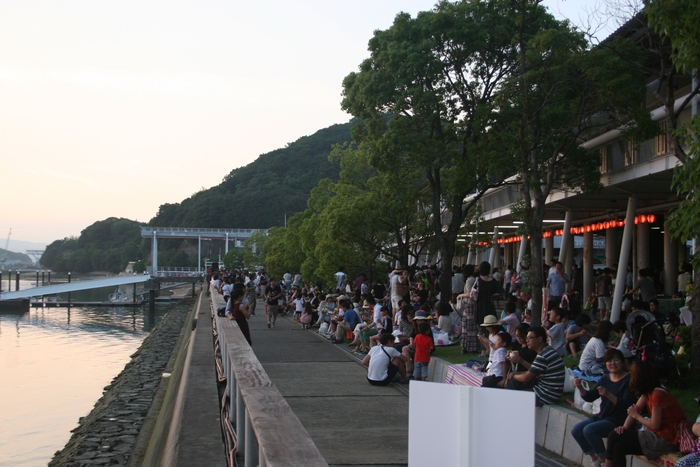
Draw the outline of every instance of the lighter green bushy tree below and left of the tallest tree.
M324 180L312 190L309 207L318 216L305 221L318 223L309 229L313 242L306 245L312 251L304 248L318 260L315 274L332 285L341 264L351 276L364 272L372 278L383 275L388 263L417 262L431 230L420 172L379 173L362 147L337 146L331 157L340 159L339 180Z

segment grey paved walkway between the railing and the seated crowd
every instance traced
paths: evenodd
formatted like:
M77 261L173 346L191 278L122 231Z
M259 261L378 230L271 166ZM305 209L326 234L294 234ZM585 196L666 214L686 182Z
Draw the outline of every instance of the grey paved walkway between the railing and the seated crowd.
M289 317L249 320L253 351L331 466L408 464L408 398L367 383L357 359Z

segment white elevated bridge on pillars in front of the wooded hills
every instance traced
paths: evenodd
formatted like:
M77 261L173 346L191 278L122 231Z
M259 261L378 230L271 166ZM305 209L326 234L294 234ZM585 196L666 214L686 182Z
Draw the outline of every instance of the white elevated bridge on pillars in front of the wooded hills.
M150 272L154 276L161 272L158 269L158 239L180 238L197 239L197 268L202 272L202 240L212 238L224 240L225 253L228 253L229 241L234 242L234 247L240 248L243 242L249 239L255 232L267 232L267 229L210 229L210 228L189 228L189 227L141 227L141 237L151 239L151 249L153 260L151 261Z

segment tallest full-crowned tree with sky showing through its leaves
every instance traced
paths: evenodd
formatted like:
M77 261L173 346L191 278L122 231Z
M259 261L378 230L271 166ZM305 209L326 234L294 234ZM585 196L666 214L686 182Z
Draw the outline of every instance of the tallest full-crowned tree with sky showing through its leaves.
M375 32L370 58L343 82L342 107L363 120L353 137L371 165L421 174L442 290L451 289L463 225L485 191L512 174L492 130L494 99L517 66L516 21L508 1L442 1L415 19L401 13Z

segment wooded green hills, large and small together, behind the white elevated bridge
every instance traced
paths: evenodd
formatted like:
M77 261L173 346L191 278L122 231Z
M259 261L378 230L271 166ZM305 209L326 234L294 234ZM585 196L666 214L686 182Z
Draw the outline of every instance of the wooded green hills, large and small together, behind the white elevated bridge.
M306 209L311 189L319 180L338 179L339 164L330 162L328 155L334 144L351 140L353 124L333 125L285 148L262 154L250 164L232 170L219 185L181 203L163 204L149 224L234 229L283 225L285 214L291 217ZM80 237L56 240L47 246L41 264L63 272L116 273L123 271L129 261L145 263L151 245L148 239L141 238L141 225L113 217L97 221L85 228ZM216 248L206 253L216 255ZM161 240L158 258L161 266L196 266L196 245L186 240Z

